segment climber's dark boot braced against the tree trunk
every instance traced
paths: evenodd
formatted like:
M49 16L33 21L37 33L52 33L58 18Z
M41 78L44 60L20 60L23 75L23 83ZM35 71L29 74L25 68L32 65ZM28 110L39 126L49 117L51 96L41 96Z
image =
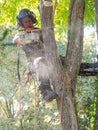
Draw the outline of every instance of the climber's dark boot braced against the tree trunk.
M51 89L49 80L41 81L39 85L39 91L42 95L43 100L46 102L50 102L58 97L58 95Z

